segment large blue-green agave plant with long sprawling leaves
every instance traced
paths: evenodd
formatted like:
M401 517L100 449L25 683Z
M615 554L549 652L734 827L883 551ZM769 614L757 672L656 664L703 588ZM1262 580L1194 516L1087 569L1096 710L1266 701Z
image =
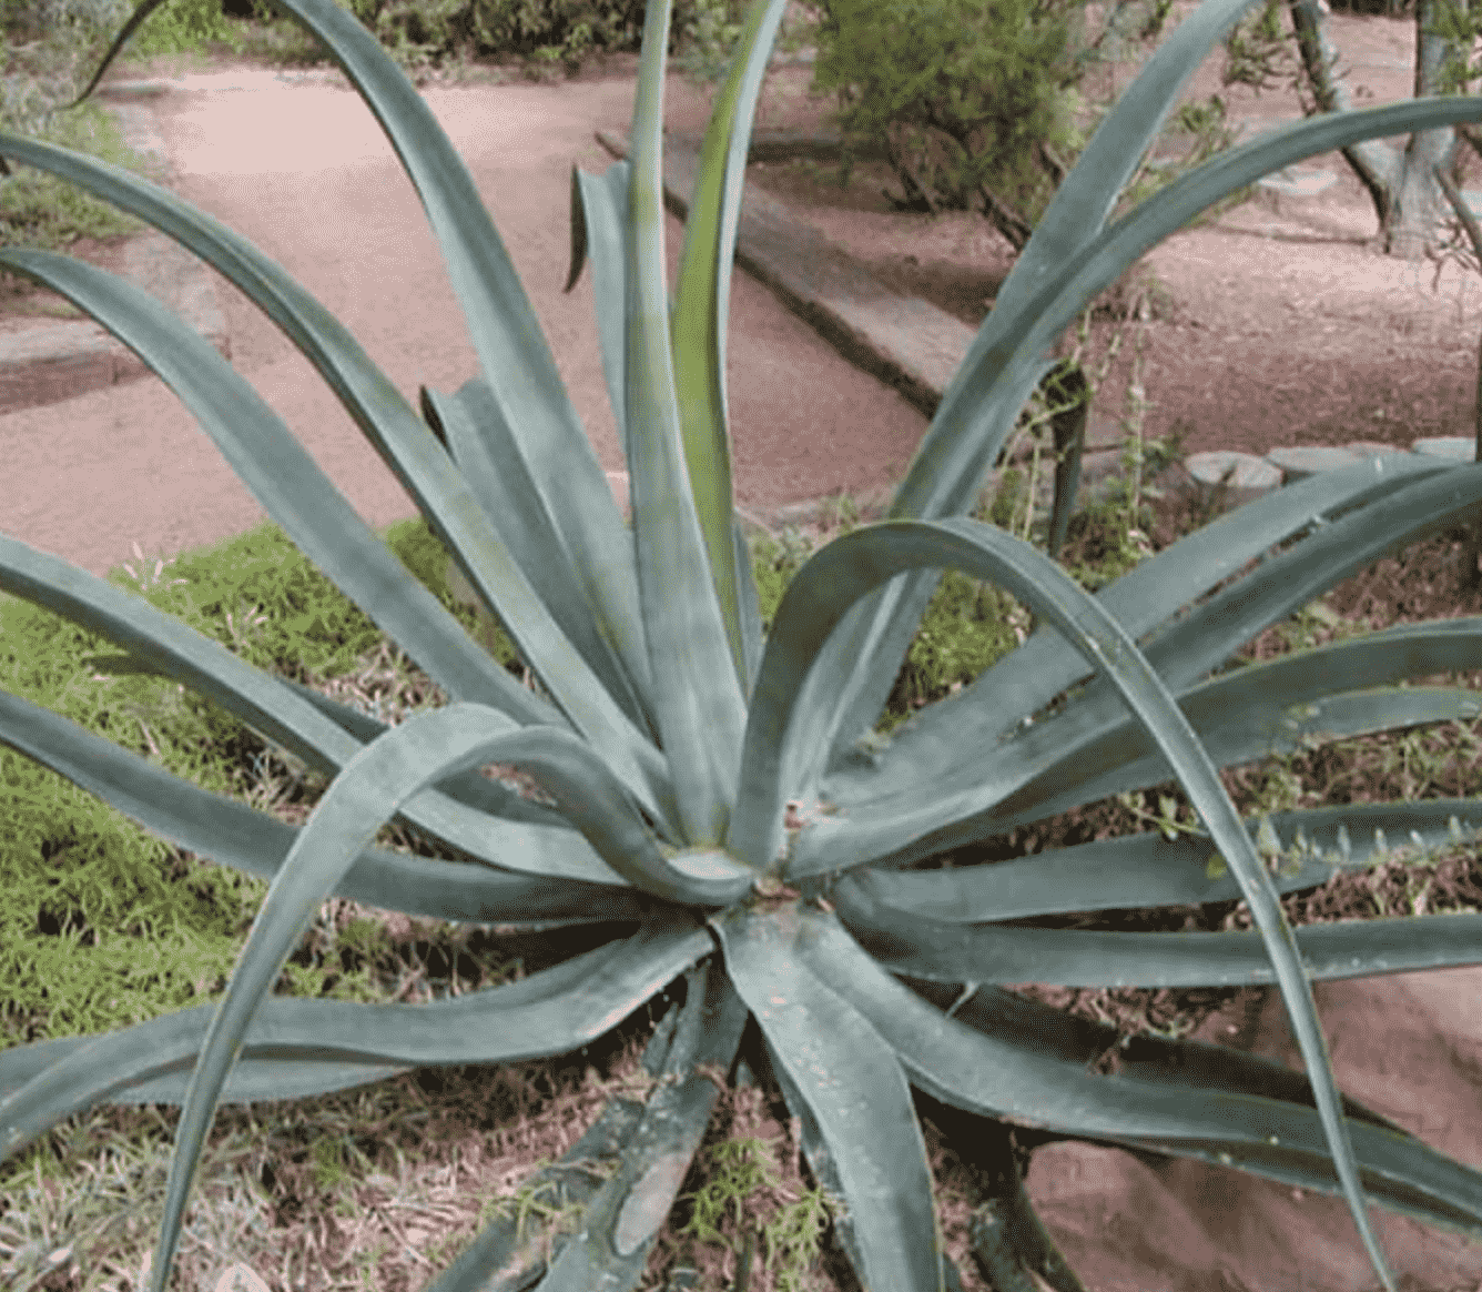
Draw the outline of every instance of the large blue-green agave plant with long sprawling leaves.
M157 3L141 3L104 67ZM397 473L539 688L496 666L408 574L205 340L102 270L0 252L0 264L68 297L169 383L299 549L453 697L388 728L0 537L0 587L105 635L333 777L307 825L290 828L0 693L0 740L181 847L271 880L219 1006L0 1053L0 1151L16 1153L93 1104L182 1105L150 1274L160 1292L222 1101L565 1053L682 979L682 1004L646 1055L659 1078L646 1104L615 1105L574 1150L612 1170L576 1190L585 1219L551 1250L542 1288L639 1282L716 1098L707 1074L737 1069L753 1019L757 1053L799 1118L815 1178L840 1203L836 1234L867 1288L957 1282L940 1246L913 1087L983 1118L986 1142L1005 1126L1040 1127L1341 1191L1387 1288L1366 1203L1482 1234L1482 1175L1340 1098L1312 998L1315 979L1482 961L1482 917L1294 933L1279 903L1335 865L1366 863L1374 846L1363 841L1381 838L1377 828L1445 841L1473 801L1288 813L1257 831L1217 774L1315 733L1473 715L1470 691L1396 684L1476 669L1482 620L1408 624L1215 673L1267 624L1466 516L1482 500L1482 467L1384 458L1309 479L1097 596L1034 547L966 518L1051 369L1058 334L1159 239L1267 172L1363 138L1482 119L1482 99L1408 101L1272 131L1109 225L1180 89L1249 3L1206 0L1045 212L889 518L815 553L763 639L732 512L725 350L747 144L784 0L750 10L719 93L673 303L659 191L668 0L648 6L631 159L602 177L572 174L572 280L590 254L630 527L427 105L333 0L274 3L329 47L376 114L467 316L482 375L455 395L424 389L421 415L310 294L209 215L31 139L0 136L0 156L148 221L264 309ZM972 687L879 739L874 719L944 568L1005 587L1039 627ZM522 767L554 807L480 776L491 762ZM932 866L948 848L1169 777L1199 814L1197 837L1138 834L999 865ZM393 819L474 860L372 847ZM1261 856L1273 835L1295 841L1279 875ZM430 1004L271 997L333 894L453 921L559 930L599 918L630 933L517 983ZM1066 911L1232 897L1249 903L1257 930L1023 926ZM1114 1040L1110 1029L1002 989L1015 982L1275 982L1310 1081L1267 1061L1150 1038L1103 1074L1089 1061ZM1011 1230L1014 1259L1073 1286L1042 1230ZM531 1286L539 1270L508 1274L522 1261L514 1230L495 1222L433 1286Z

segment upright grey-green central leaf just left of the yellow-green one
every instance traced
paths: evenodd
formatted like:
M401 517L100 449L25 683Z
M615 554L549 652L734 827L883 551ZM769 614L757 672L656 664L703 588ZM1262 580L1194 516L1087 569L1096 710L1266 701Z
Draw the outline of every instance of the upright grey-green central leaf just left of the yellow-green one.
M725 838L745 702L695 512L670 350L659 171L668 16L668 0L649 3L633 102L624 384L639 596L651 672L662 679L659 733L685 837L702 846Z

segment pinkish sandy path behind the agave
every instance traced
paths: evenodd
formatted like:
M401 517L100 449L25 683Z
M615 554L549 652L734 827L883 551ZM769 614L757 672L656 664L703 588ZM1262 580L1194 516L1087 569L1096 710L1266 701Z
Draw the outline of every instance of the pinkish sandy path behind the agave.
M250 85L250 90L233 86ZM611 163L597 126L625 128L631 79L560 86L433 88L427 101L494 211L572 401L603 464L619 469L597 349L590 274L562 294L569 174ZM185 79L157 99L178 191L243 233L317 295L416 403L476 371L421 205L360 98L322 79ZM668 220L670 282L683 230ZM233 365L292 427L372 525L411 498L322 380L221 280ZM768 507L886 484L925 418L852 368L772 294L738 273L731 316L737 495ZM156 380L0 417L0 531L104 573L237 534L264 512L215 445Z

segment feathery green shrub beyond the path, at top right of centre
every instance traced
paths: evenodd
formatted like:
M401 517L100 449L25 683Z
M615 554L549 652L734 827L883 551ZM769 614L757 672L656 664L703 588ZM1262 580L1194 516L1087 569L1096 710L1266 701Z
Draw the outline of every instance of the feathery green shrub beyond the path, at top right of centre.
M1088 70L1138 56L1169 7L1119 4L1088 39L1083 9L1061 0L828 0L815 33L814 90L839 99L840 181L848 184L867 147L883 148L901 187L885 196L897 208L980 211L1021 251L1094 131L1094 122L1077 123ZM932 39L922 40L923 31ZM1169 129L1190 145L1177 162L1144 159L1122 211L1233 139L1217 95L1184 104Z

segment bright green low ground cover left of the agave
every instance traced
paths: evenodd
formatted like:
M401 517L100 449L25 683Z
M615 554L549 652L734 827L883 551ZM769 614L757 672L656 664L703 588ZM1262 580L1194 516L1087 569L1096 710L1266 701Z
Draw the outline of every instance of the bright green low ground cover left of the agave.
M471 629L474 616L452 602L425 522L393 525L385 538ZM292 678L342 676L381 641L271 522L170 561L129 562L108 579L249 663ZM138 672L111 642L13 596L0 596L0 690L216 794L246 798L253 764L279 758L228 711ZM262 880L181 854L9 749L0 749L0 814L7 825L0 1047L114 1031L224 995L267 894ZM139 955L141 939L148 955ZM339 955L301 949L279 991L369 1000L366 966L385 946L369 926L347 935Z

